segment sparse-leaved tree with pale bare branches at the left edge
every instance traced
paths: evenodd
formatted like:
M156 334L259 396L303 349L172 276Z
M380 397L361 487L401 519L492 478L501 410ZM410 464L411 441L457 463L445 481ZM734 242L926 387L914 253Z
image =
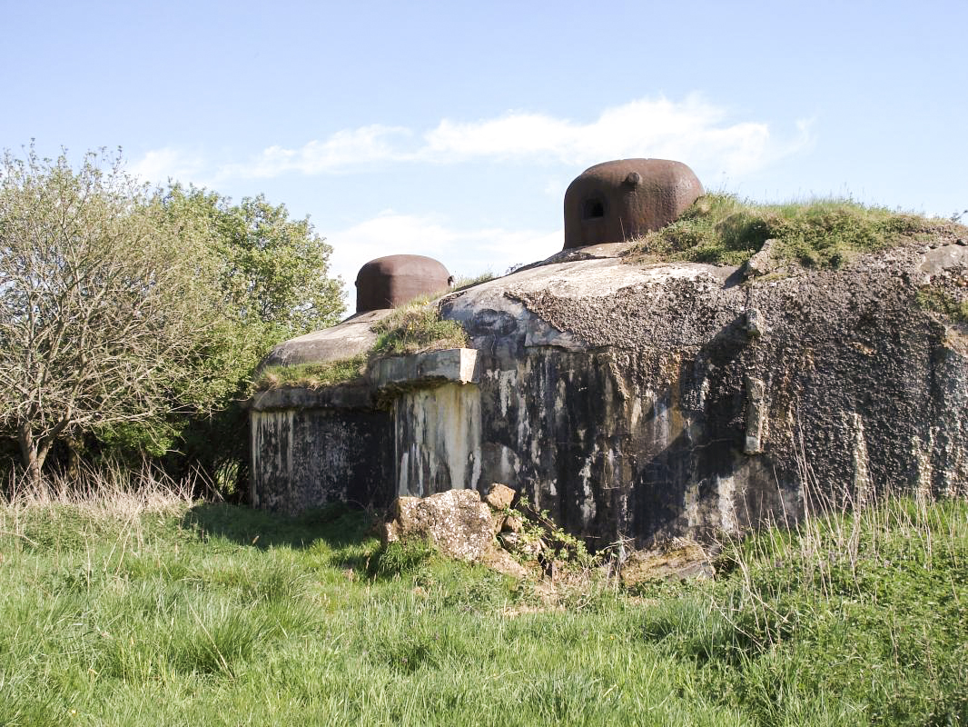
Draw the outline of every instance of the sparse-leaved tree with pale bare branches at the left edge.
M216 274L205 240L88 153L0 165L0 427L29 476L59 439L150 425L204 398L199 356L216 344ZM150 427L149 427L150 428Z

